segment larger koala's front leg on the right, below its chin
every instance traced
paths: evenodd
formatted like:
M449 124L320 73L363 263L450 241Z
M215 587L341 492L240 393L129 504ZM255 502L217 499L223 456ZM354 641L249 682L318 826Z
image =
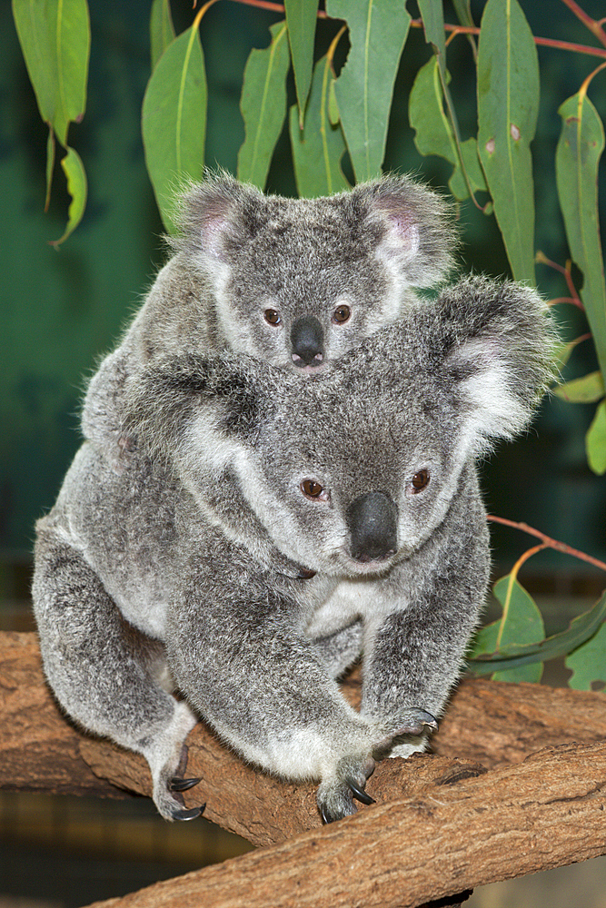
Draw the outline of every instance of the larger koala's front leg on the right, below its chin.
M385 732L377 755L423 750L424 732L437 727L428 722L422 735L404 731L418 710L442 715L460 674L488 581L485 542L482 526L478 537L460 538L450 552L436 546L432 560L427 552L417 554L377 590L382 617L366 627L362 702L363 715Z

